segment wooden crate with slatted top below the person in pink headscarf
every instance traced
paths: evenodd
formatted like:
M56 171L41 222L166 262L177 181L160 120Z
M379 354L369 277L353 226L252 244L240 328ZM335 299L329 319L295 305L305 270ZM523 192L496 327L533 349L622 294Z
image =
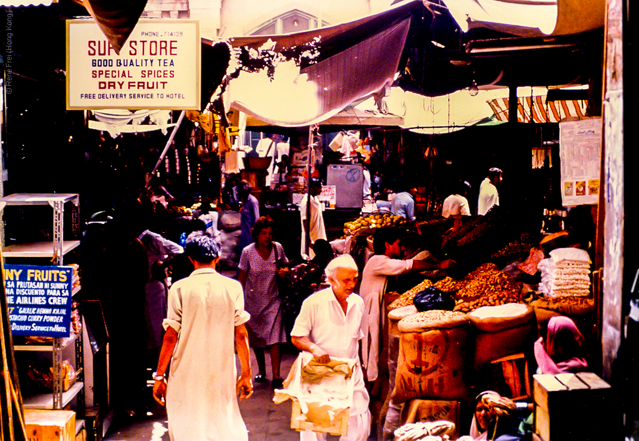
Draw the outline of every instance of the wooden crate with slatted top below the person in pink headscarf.
M590 372L533 378L535 433L543 441L606 437L612 416L608 383Z

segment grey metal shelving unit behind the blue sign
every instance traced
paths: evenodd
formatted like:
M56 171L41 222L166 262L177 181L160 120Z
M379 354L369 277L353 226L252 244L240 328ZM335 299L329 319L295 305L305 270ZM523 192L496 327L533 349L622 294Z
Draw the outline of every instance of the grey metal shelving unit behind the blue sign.
M13 193L0 198L0 210L5 206L35 206L49 205L53 208L53 240L46 242L30 242L11 244L3 247L3 257L50 257L54 265L63 265L64 256L79 246L79 240L64 240L64 206L72 202L72 231L79 237L79 195L73 193ZM79 292L80 287L73 288L72 295ZM75 344L75 368L79 371L77 380L67 391L63 391L62 352L66 347ZM17 345L14 350L51 352L53 363L53 392L23 397L24 408L62 409L73 398L77 398L77 405L84 414L84 382L82 366L82 334L74 334L70 338L54 338L50 345Z

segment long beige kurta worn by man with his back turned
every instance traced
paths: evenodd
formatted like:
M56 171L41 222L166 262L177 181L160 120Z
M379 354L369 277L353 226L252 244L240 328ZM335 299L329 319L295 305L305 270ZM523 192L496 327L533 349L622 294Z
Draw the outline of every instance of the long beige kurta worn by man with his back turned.
M164 328L178 331L166 397L172 441L248 439L235 394L235 326L249 318L240 282L214 269L169 290Z

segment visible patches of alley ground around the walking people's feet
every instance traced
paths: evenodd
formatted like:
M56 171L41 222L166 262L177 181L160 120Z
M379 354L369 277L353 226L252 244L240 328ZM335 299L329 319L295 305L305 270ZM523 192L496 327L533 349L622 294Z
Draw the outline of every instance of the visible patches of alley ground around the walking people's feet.
M283 377L288 374L296 356L293 348L282 351ZM258 371L252 351L251 368L253 373ZM268 351L266 352L266 371L270 371ZM298 441L300 435L291 429L291 401L280 405L273 403L270 382L254 383L253 386L253 396L249 400L240 401L240 412L249 430L249 441ZM329 435L328 439L337 440L337 437ZM137 419L134 417L130 421L114 420L104 441L169 441L166 409L156 403L150 407L147 415Z

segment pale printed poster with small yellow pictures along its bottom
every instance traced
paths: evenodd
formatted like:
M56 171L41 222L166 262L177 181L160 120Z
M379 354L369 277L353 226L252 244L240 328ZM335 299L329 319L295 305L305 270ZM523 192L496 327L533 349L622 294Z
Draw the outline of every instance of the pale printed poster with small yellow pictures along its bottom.
M599 203L602 119L559 123L562 204Z

